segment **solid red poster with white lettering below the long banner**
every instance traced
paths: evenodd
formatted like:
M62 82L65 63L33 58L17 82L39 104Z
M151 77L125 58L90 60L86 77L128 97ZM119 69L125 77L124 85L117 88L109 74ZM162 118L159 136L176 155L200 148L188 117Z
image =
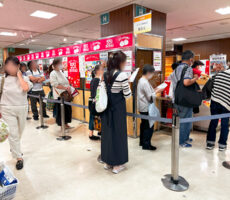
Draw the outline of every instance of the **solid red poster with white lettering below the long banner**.
M80 87L80 73L79 73L79 58L78 57L68 57L68 79L69 83L75 87Z

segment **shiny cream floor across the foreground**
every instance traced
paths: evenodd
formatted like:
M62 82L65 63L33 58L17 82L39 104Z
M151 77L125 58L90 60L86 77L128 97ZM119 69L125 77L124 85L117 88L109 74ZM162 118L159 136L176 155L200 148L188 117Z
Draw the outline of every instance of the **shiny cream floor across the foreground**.
M162 132L153 136L156 152L142 151L138 139L129 138L127 170L114 175L105 171L96 158L100 142L87 137L87 126L78 121L72 140L57 141L60 129L49 120L49 128L37 130L38 122L28 121L23 138L25 168L16 171L8 142L0 144L0 160L13 169L20 184L15 200L229 200L230 170L222 161L230 151L204 149L205 134L195 132L192 149L180 150L180 175L190 188L177 193L164 188L161 178L170 173L171 137Z

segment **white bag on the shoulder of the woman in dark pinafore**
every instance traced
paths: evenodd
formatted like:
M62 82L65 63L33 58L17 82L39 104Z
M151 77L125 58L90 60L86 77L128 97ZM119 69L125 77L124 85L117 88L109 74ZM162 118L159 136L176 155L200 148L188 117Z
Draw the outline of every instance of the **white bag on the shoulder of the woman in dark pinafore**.
M105 111L108 105L108 96L105 89L104 82L101 82L99 86L97 87L97 93L96 93L96 111L98 113L102 113Z

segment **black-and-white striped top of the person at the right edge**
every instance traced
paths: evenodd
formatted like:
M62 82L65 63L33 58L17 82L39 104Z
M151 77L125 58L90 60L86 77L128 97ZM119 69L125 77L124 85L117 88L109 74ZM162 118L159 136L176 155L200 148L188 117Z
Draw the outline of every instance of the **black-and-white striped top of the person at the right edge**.
M216 75L211 100L230 111L230 69Z

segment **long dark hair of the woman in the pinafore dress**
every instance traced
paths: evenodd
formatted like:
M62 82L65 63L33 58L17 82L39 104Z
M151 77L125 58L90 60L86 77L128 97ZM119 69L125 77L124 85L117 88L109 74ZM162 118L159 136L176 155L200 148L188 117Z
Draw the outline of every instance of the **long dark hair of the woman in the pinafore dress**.
M121 70L121 64L126 61L127 56L122 51L117 51L115 53L112 53L109 56L108 62L107 62L107 80L108 83L111 83L113 74L115 70Z

